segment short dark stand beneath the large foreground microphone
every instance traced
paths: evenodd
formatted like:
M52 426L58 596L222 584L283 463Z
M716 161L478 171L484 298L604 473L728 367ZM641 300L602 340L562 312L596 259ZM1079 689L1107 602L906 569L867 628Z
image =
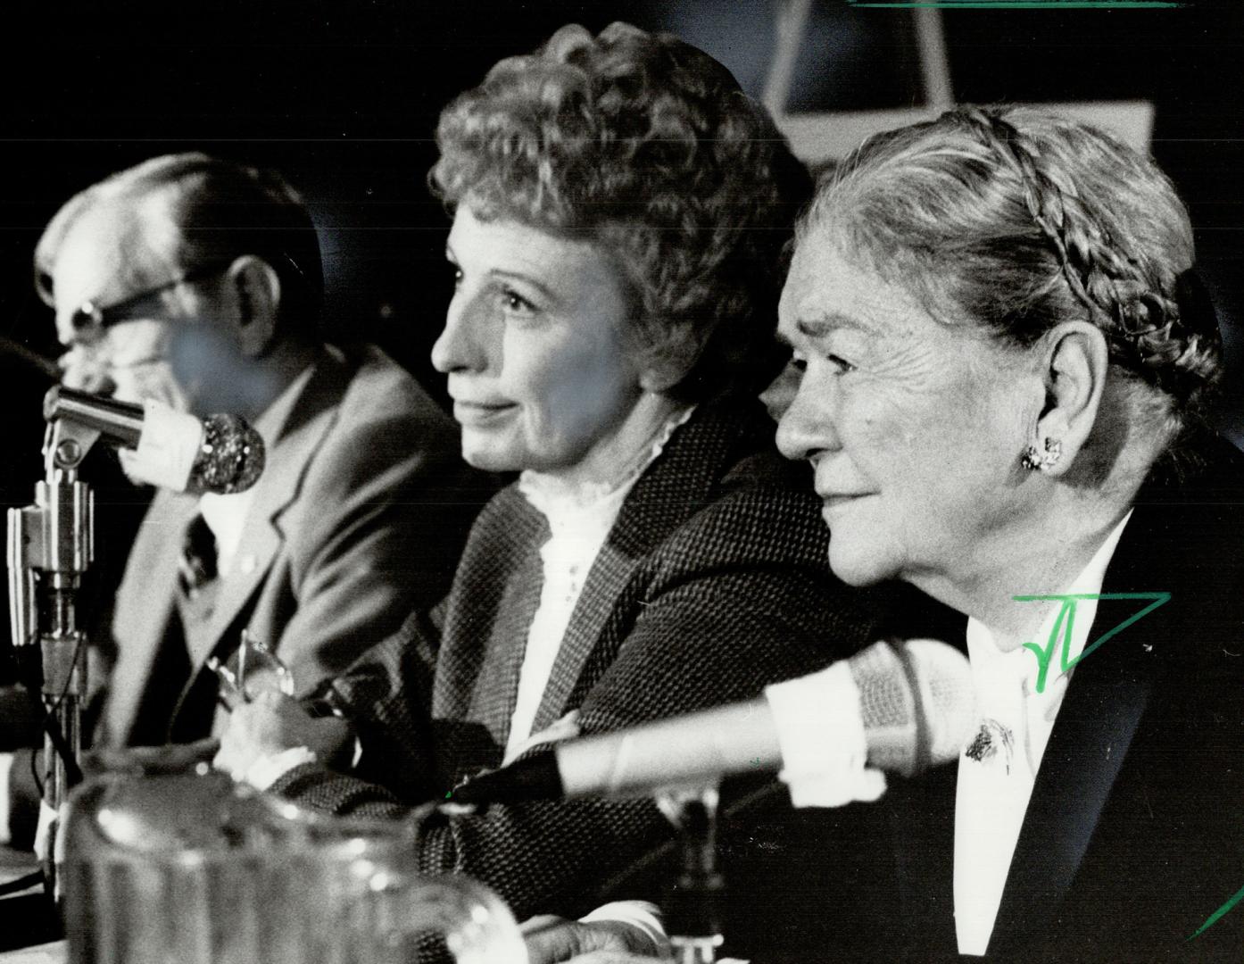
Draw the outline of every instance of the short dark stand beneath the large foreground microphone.
M722 947L725 878L717 851L718 789L674 790L657 799L678 830L680 867L666 892L666 929L677 964L713 964Z

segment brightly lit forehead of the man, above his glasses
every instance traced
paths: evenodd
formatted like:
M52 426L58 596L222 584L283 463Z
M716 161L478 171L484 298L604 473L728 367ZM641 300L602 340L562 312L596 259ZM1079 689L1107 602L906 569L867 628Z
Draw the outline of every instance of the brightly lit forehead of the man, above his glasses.
M165 210L154 197L83 210L49 265L45 284L57 310L118 301L175 271L177 230Z

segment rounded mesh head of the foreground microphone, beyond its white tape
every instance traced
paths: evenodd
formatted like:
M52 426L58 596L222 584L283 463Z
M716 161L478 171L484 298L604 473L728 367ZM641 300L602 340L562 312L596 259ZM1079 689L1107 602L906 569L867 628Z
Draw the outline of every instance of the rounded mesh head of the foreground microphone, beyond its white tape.
M868 764L914 776L958 758L975 725L968 658L949 643L875 643L851 657Z

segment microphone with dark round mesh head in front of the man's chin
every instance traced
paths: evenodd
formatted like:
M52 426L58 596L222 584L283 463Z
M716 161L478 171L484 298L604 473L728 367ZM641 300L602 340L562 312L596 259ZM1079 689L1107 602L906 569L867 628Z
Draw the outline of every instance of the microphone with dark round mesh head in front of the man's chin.
M238 415L200 422L162 402L136 406L55 386L44 396L44 419L73 422L132 449L131 478L178 493L243 493L264 471L264 440Z

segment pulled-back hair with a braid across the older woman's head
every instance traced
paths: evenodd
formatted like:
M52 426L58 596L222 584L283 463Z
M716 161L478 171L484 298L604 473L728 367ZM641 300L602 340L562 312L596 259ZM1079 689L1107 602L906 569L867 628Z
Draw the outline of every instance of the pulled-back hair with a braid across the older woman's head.
M1093 323L1116 379L1171 437L1200 420L1222 374L1187 209L1152 159L1087 124L960 107L878 134L822 182L800 230L812 224L921 287L935 316L1004 342Z

